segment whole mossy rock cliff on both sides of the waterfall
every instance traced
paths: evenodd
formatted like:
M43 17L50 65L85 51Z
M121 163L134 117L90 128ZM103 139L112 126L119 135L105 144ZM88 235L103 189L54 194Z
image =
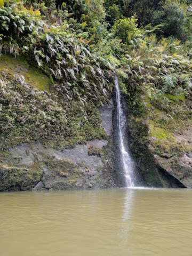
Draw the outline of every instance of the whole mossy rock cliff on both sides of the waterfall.
M0 191L121 187L113 100L68 106L24 59L0 60ZM191 98L136 96L124 107L137 186L192 187Z

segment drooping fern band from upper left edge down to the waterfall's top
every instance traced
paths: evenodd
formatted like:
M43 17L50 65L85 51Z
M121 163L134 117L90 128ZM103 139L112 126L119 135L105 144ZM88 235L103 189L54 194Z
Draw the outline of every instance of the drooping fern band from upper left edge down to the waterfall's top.
M86 39L76 35L74 19L48 25L40 19L38 10L33 11L33 7L27 10L22 5L8 6L0 12L4 14L0 19L3 33L0 52L9 50L17 55L19 48L23 53L30 52L38 66L52 74L64 98L76 98L82 105L87 99L96 104L105 102L112 87L100 68L100 59L91 54Z

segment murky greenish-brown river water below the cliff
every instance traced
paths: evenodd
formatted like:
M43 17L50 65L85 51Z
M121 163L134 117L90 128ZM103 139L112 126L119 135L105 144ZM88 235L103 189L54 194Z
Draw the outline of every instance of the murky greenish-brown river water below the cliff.
M1 193L1 256L192 255L192 190Z

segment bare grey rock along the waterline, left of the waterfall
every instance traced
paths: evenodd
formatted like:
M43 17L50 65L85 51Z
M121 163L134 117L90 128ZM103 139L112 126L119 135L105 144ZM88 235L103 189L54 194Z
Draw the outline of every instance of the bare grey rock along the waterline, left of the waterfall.
M99 109L107 140L90 140L59 151L42 143L9 149L0 165L0 191L115 187L110 150L113 101ZM10 165L14 166L10 168Z

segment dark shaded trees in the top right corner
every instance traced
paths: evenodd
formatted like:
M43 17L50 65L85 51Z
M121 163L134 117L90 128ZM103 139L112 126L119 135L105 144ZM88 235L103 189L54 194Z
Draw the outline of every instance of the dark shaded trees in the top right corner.
M190 1L182 0L124 0L123 4L116 0L107 0L108 21L113 25L117 17L130 18L136 15L140 26L152 23L153 26L164 23L162 29L164 36L174 36L182 41L191 40L192 24L189 12ZM117 14L117 10L120 14ZM115 15L117 16L115 18ZM113 18L110 18L113 17ZM162 35L161 31L156 31L157 35Z

